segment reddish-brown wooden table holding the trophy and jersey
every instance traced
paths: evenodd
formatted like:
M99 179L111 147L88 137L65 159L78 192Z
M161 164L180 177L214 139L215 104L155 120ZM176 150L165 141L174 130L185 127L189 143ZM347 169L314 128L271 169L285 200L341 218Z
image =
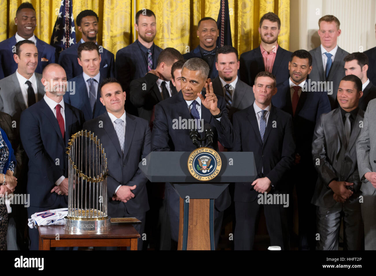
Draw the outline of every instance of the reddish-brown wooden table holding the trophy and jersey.
M74 246L130 246L130 250L137 250L137 238L141 236L132 225L112 223L111 228L101 234L76 234L65 231L64 225L39 226L39 250Z

